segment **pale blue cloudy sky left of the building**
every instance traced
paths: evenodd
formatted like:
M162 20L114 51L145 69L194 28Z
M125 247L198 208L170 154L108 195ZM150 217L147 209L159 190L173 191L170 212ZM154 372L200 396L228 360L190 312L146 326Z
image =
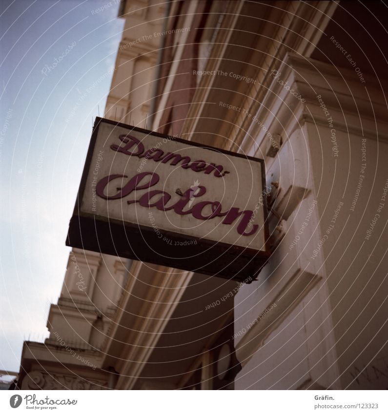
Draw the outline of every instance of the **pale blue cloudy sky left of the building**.
M118 0L0 0L0 370L19 372L61 292L92 122L103 115Z

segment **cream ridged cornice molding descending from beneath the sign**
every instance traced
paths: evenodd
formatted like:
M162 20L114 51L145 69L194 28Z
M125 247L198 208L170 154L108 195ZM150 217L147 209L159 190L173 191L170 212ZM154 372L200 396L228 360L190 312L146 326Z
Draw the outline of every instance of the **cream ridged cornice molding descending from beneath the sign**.
M118 335L118 330L125 326L123 320L131 313L131 296L136 287L144 284L144 275L147 274L147 285L150 286L147 296L141 309L136 311L136 321L131 326L132 333L125 340L126 344L136 344L129 346L123 344L122 355L119 356L117 371L122 375L117 383L118 389L131 389L136 377L140 375L143 366L147 363L159 337L163 333L164 326L172 315L176 306L179 304L180 297L184 294L184 288L188 285L193 275L192 272L182 272L179 277L174 277L176 270L159 266L157 270L149 269L146 263L133 261L130 276L123 289L123 294L119 300L116 314L106 333L102 344L102 366L104 359L109 356L110 348ZM151 279L149 280L149 277Z

